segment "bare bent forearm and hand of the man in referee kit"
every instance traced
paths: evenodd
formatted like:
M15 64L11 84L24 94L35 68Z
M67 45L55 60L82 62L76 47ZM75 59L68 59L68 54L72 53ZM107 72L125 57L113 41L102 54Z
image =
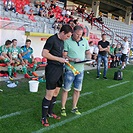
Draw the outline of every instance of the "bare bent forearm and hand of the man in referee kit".
M61 63L66 62L66 60L64 58L57 57L57 56L54 56L54 55L50 54L49 50L47 50L47 49L43 49L42 56L49 59L49 60L59 61Z

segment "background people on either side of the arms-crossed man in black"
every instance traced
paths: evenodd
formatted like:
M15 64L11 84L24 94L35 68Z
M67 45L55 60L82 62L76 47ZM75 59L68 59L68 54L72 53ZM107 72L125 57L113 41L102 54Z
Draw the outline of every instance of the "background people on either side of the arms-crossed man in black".
M126 45L125 49L123 50L123 45ZM129 63L129 54L130 54L130 48L129 48L129 43L128 43L128 38L124 38L124 44L112 44L110 46L110 51L108 51L108 59L110 60L111 63L108 63L109 68L115 68L120 65L122 65L122 62L125 61L125 63L122 66L122 69L125 68L125 65ZM99 53L99 48L98 45L95 45L93 41L89 42L90 46L90 58L95 60L95 62L92 63L93 67L95 67L98 64L98 53ZM124 54L124 57L123 57ZM124 58L124 59L123 59ZM102 63L101 63L102 64ZM100 65L100 63L99 63Z

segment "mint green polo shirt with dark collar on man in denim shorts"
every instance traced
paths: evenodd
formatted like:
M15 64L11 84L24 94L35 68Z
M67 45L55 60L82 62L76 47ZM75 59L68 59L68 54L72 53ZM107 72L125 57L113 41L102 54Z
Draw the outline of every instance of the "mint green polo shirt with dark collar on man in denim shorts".
M64 43L64 51L68 53L67 56L70 58L85 60L85 53L89 49L88 41L85 38L82 38L79 42L76 42L72 39L72 37L70 37ZM70 62L70 64L78 71L84 70L84 64L75 64L74 62ZM67 65L66 68L71 70Z

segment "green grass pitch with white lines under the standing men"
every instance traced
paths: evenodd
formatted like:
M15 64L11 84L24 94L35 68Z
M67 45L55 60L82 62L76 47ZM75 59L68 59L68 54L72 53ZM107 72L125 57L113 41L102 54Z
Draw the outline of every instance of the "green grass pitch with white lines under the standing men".
M70 99L66 104L67 117L61 117L61 120L49 118L51 126L48 128L43 127L40 122L45 83L39 84L37 93L31 93L26 79L19 80L14 89L6 87L5 82L0 82L0 89L3 89L3 92L0 92L0 133L133 133L133 66L127 66L123 70L124 79L121 81L113 80L116 70L108 70L108 80L102 79L102 75L97 80L96 70L89 71L89 74L85 72L78 107L83 114L92 112L76 117L71 113ZM118 86L108 88L116 84ZM73 90L69 97L72 92ZM127 94L131 95L112 103L114 99ZM58 100L60 99L61 91L58 96ZM110 101L111 104L101 107ZM97 108L98 106L100 108ZM58 101L54 108L58 115L60 108L61 103Z

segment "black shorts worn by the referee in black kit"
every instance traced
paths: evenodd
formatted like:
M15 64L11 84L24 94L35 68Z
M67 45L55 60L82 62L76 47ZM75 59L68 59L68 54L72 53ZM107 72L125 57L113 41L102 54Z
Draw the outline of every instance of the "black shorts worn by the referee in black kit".
M48 64L45 68L46 89L54 90L56 87L62 87L63 66Z

